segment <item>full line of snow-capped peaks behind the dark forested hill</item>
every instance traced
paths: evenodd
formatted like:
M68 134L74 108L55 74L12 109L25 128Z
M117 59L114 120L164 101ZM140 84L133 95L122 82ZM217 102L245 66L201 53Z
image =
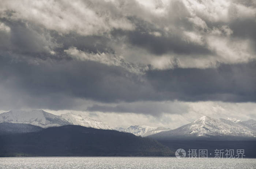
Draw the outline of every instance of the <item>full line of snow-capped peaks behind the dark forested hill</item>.
M3 124L5 123L5 124ZM10 123L15 123L16 126ZM79 125L97 129L113 130L105 123L90 119L79 114L62 114L60 116L50 114L43 110L33 111L8 111L0 114L0 133L11 132L31 132L38 131L38 127L58 127L65 125ZM23 125L21 127L21 124ZM20 127L17 127L17 126ZM38 127L33 127L33 126ZM23 131L18 128L23 128ZM244 137L256 138L256 121L241 121L235 118L216 119L203 116L192 123L178 127L174 130L164 127L150 127L145 125L130 126L128 128L114 128L114 130L132 133L136 136L151 137L154 139L192 139L192 138L217 138L217 137Z

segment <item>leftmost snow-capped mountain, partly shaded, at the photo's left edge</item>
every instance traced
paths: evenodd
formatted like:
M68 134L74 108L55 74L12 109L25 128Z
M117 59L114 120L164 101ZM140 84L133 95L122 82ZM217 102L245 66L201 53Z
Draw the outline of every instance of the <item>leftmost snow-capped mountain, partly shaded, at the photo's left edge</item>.
M40 126L43 128L53 126L64 126L70 124L67 120L45 112L43 110L33 111L8 111L0 114L0 123L23 123Z

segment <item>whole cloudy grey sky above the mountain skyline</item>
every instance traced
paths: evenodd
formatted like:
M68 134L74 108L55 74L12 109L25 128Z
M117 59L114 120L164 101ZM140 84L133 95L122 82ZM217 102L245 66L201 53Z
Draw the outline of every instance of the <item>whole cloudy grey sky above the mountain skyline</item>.
M112 127L256 119L254 0L3 0L0 110Z

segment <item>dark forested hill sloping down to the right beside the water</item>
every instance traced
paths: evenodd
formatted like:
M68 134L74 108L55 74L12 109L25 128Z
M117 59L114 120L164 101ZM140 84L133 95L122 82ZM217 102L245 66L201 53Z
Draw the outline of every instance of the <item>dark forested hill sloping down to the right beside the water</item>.
M0 136L0 156L173 156L161 143L130 133L83 126Z

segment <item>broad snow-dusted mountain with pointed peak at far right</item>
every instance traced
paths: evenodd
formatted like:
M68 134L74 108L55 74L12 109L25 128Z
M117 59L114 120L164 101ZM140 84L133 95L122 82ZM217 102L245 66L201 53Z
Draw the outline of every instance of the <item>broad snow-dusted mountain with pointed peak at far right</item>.
M249 126L251 123L247 122L246 125ZM158 139L176 137L256 137L256 130L246 125L233 118L215 119L203 116L190 124L174 130L159 132L152 135L152 137ZM253 123L251 126L253 126Z

